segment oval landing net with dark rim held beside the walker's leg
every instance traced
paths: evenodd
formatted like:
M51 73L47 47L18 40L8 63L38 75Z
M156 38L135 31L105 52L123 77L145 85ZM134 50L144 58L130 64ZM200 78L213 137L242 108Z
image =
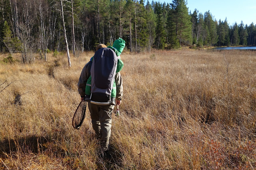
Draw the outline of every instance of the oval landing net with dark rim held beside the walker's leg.
M72 126L79 129L84 121L86 111L86 101L81 101L72 119Z

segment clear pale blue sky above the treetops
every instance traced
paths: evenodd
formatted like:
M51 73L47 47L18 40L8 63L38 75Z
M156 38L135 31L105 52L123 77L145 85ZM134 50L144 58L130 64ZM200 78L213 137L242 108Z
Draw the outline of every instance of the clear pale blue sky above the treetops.
M158 2L171 3L172 0L156 0ZM187 0L188 11L194 12L195 8L204 14L210 10L214 18L219 21L228 20L230 26L235 22L244 25L256 24L256 0ZM149 1L152 2L152 1Z

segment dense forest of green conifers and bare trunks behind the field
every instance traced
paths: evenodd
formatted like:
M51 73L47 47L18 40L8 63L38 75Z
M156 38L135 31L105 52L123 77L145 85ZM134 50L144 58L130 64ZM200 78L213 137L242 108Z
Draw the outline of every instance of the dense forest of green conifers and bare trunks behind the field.
M182 45L256 45L256 25L228 25L210 11L189 12L185 0L0 0L0 51L19 51L24 61L49 50L93 50L126 41L130 51ZM78 52L77 52L78 53ZM68 54L69 55L69 54Z

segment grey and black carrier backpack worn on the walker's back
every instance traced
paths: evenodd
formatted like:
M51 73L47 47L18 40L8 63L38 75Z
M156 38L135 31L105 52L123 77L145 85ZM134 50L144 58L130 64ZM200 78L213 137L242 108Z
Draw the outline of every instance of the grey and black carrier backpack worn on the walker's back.
M101 48L94 54L91 67L91 103L114 105L110 97L115 81L117 61L116 53L110 48Z

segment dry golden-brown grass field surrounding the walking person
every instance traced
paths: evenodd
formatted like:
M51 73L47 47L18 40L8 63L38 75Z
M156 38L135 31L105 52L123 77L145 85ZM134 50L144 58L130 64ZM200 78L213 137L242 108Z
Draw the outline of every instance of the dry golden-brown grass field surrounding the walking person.
M88 108L72 127L93 54L71 56L71 69L65 53L0 63L0 169L256 168L256 51L124 51L108 157Z

